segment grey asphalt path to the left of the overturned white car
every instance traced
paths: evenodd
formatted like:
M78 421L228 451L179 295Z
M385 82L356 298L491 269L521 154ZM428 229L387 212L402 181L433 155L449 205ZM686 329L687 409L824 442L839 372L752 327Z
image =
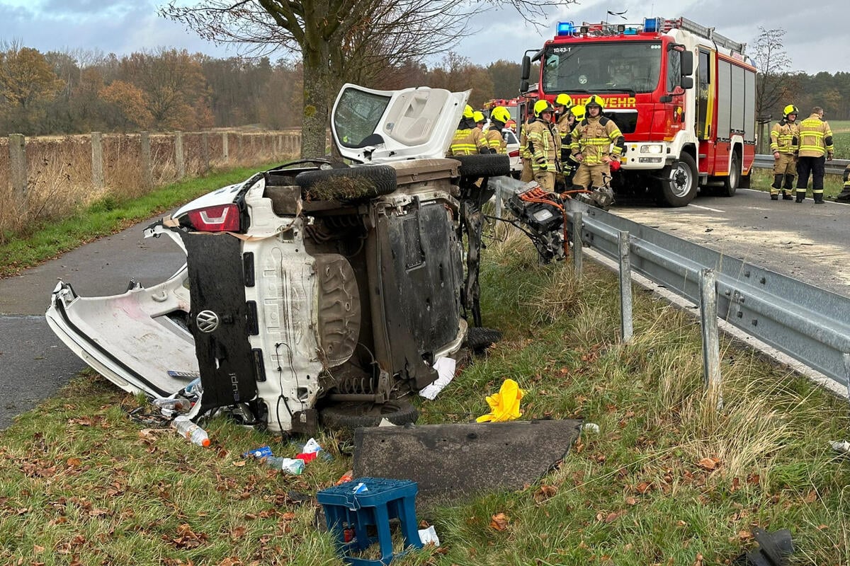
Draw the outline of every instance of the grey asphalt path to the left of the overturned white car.
M44 319L59 278L82 296L121 294L131 278L150 286L183 265L171 238L143 238L150 221L0 279L0 429L86 367Z

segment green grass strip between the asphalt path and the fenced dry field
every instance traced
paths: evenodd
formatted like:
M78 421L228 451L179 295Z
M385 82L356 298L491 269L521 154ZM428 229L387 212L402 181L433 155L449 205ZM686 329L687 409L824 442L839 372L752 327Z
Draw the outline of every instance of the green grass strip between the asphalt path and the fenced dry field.
M183 205L216 188L244 181L264 168L265 165L256 165L216 171L206 177L157 188L136 199L120 200L108 196L65 220L36 223L23 236L8 238L0 243L0 278L54 259L82 244L121 232L139 221Z

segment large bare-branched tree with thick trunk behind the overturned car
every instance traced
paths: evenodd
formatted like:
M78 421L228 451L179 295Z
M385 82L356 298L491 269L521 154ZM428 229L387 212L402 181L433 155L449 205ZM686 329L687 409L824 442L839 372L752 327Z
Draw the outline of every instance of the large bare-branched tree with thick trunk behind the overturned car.
M344 81L445 53L473 15L513 6L526 20L575 0L202 0L172 2L161 14L215 42L247 44L255 54L299 53L303 64L302 155L325 153L333 94Z

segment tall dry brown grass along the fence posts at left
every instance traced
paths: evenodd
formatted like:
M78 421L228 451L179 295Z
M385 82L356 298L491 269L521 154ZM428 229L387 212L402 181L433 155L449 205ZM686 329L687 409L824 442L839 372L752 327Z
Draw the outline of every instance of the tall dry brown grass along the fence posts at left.
M25 235L31 226L70 216L96 201L120 202L150 191L144 186L139 134L105 134L102 139L103 188L95 187L92 180L90 136L26 139L26 198L14 193L11 181L0 183L0 199L7 204L0 208L0 244ZM155 188L178 180L175 140L174 134L150 135ZM300 137L292 132L185 132L185 175L199 177L210 168L268 163L297 153L299 147ZM10 179L8 138L0 139L0 179Z

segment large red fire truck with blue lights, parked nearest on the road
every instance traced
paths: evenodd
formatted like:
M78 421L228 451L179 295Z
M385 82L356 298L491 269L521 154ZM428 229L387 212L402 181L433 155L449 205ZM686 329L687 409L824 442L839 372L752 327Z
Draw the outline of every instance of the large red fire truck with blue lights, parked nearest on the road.
M684 206L700 190L731 197L750 186L756 155L756 69L745 44L685 18L640 24L558 24L523 58L522 92L583 104L604 99L626 137L617 192ZM529 88L530 67L540 81Z

